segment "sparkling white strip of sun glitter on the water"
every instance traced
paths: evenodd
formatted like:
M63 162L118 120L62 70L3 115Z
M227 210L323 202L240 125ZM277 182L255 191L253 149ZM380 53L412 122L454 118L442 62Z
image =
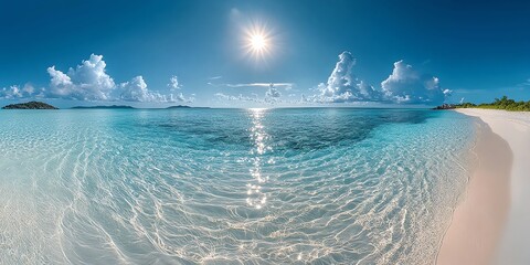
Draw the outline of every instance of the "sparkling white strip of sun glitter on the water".
M254 145L250 151L252 157L252 168L250 171L253 181L246 184L246 203L248 206L256 209L262 209L267 202L267 194L262 190L262 186L268 181L268 176L262 173L263 156L273 150L273 148L267 145L271 136L266 134L265 127L262 124L265 114L266 108L248 109L248 115L252 119L252 127L248 131L251 132L250 137L254 141Z

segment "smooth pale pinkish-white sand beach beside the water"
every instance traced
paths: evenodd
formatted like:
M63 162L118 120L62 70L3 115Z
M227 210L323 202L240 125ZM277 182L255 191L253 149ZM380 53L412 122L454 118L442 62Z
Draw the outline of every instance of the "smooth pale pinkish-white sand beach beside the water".
M530 113L457 112L487 127L479 130L478 165L437 264L530 264Z

